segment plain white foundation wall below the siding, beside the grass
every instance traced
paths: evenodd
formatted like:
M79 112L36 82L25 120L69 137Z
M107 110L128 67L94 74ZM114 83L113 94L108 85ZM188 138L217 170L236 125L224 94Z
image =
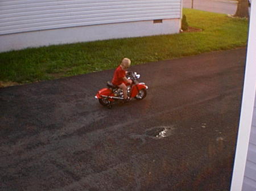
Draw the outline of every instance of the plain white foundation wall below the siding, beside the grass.
M14 33L0 35L0 52L11 49L18 50L30 46L37 47L52 44L177 33L179 32L179 28L179 19L164 19L162 23L154 23L152 20L148 20L145 22L101 24L96 26Z

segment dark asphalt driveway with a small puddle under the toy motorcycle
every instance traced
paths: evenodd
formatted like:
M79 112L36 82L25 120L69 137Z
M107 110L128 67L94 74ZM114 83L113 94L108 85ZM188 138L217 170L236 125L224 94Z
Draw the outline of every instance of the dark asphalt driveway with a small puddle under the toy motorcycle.
M147 97L112 109L114 70L0 88L0 190L229 190L245 55L132 66Z

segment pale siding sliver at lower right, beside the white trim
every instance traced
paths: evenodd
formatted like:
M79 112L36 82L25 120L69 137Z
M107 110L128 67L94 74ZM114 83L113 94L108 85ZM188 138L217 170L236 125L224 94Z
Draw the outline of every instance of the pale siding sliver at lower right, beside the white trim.
M245 178L242 191L256 190L256 97L254 101L253 121L251 124L250 142L245 166Z

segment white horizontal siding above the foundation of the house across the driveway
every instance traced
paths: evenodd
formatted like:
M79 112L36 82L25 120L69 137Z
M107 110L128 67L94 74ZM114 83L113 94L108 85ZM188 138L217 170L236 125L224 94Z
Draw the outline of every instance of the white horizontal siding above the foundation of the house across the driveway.
M180 18L180 0L1 0L0 35Z

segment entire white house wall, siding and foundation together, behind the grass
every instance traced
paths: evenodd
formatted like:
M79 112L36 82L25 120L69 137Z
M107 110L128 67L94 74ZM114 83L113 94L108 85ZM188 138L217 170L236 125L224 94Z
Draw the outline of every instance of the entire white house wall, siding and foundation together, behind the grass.
M176 33L180 18L181 0L1 0L0 52Z

